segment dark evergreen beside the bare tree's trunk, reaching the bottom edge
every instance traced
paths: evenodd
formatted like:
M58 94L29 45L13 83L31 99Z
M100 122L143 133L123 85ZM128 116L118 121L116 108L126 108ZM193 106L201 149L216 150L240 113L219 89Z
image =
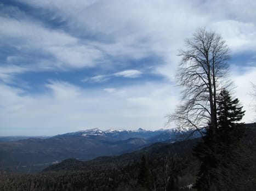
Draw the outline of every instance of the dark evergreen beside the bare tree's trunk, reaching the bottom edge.
M240 158L235 150L243 133L235 122L242 120L245 111L242 111L239 100L231 99L225 88L221 90L217 103L217 134L213 138L211 127L207 128L203 142L194 149L195 156L202 162L195 184L197 190L230 190L230 172Z

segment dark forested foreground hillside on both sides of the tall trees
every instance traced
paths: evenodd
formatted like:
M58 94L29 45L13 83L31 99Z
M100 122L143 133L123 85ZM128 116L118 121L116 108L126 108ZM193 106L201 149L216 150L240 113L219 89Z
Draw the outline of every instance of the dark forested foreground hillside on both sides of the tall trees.
M255 124L246 124L237 145L239 165L229 178L232 190L254 190L256 186ZM1 190L192 190L201 162L193 148L201 139L173 144L157 143L116 157L88 162L67 159L39 174L1 173Z

